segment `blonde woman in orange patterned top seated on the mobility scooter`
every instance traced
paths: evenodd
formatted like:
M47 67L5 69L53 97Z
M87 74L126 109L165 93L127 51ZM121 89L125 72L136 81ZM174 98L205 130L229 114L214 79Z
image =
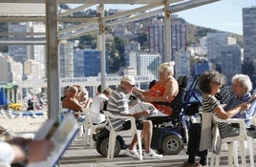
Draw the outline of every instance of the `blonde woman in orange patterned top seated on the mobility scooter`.
M157 102L172 102L176 95L179 93L179 84L174 78L174 65L175 62L165 62L160 64L159 81L149 90L142 91L138 88L135 89L135 94L142 94L143 101L154 104L160 111L159 115L172 115L172 107L170 105L161 105Z

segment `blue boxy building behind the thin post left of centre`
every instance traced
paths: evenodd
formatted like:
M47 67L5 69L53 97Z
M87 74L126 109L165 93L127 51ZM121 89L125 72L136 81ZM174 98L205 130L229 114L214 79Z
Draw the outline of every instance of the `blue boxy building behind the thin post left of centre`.
M106 73L109 73L108 52L106 56ZM74 52L74 77L97 76L101 73L101 52L98 50L78 50Z

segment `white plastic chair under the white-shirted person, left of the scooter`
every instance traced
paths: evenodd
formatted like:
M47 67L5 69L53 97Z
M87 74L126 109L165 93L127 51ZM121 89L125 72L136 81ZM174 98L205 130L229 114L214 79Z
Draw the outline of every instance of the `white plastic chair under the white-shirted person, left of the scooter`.
M92 119L91 119L91 115L90 113L92 112L91 109L83 109L83 113L86 117L85 122L84 122L84 131L85 131L85 138L84 138L84 147L86 148L88 140L90 138L90 148L93 149L94 147L94 132L96 131L97 128L103 127L106 125L106 123L99 123L99 124L94 124ZM90 133L89 133L90 130Z

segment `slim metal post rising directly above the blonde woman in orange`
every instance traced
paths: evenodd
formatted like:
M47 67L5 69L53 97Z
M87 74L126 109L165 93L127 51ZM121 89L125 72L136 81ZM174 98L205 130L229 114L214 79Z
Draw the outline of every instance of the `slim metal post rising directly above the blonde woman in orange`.
M171 11L169 10L169 3L164 1L164 62L172 60L172 46L171 46Z

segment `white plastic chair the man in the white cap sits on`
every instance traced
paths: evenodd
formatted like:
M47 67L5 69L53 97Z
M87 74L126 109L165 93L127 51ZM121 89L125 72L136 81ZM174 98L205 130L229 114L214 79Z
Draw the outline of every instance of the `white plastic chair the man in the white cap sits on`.
M139 157L140 157L139 159L142 160L141 130L138 130L136 127L136 119L133 116L113 115L112 113L110 113L108 111L103 111L103 113L104 113L104 115L106 115L107 123L110 128L109 129L110 135L109 135L109 147L108 147L107 158L112 159L114 157L117 136L132 134L132 135L137 135L137 137L138 137ZM124 130L124 131L116 131L113 128L113 124L111 122L112 118L130 120L131 121L131 129Z

